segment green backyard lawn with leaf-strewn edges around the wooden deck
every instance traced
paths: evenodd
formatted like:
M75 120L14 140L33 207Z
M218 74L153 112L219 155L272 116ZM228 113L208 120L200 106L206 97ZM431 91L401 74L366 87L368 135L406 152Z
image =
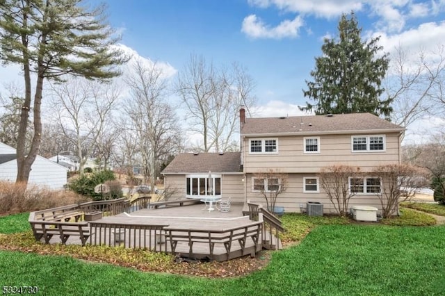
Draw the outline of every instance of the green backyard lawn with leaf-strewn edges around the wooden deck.
M178 265L157 253L41 245L33 240L27 214L10 215L0 217L0 233L17 233L0 235L0 246L26 252L0 250L0 279L6 286L38 286L44 295L441 295L445 227L409 227L431 217L407 208L402 214L383 221L398 226L387 226L286 213L284 238L300 244L273 252L265 268L230 279L177 275L190 274L181 268L211 265ZM72 254L95 262L67 256ZM97 263L113 261L127 268ZM163 273L136 270L143 264Z

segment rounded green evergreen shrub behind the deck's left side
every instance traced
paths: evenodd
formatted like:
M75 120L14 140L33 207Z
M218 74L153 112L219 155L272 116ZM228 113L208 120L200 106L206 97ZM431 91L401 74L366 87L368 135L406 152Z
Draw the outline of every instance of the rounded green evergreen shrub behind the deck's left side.
M73 190L80 195L85 195L87 197L92 197L94 200L110 199L122 197L122 188L113 183L113 189L111 194L101 194L95 192L95 187L101 183L106 183L107 181L115 180L114 173L110 170L96 171L92 174L83 174L78 178L74 179L68 188ZM109 184L107 184L109 185ZM120 191L120 192L119 192Z

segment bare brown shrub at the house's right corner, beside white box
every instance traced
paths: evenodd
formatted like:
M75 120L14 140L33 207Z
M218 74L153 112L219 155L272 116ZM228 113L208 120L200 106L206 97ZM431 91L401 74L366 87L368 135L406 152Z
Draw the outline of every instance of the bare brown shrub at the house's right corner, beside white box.
M430 180L426 170L406 164L379 165L374 168L373 175L381 182L377 196L383 217L394 215L399 203L414 197Z

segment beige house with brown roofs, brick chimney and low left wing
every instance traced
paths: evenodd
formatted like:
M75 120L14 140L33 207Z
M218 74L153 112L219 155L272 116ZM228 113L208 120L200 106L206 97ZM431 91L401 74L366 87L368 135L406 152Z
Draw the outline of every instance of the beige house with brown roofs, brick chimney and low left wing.
M321 202L325 213L334 213L318 173L323 167L343 164L369 172L358 185L355 179L350 206L381 208L375 194L381 180L371 172L377 165L401 162L404 129L369 113L246 118L241 108L240 125L240 153L179 154L165 168L165 184L175 188L175 197L216 195L265 204L259 188L267 190L270 184L256 176L273 170L287 176L277 206L300 212L306 202Z

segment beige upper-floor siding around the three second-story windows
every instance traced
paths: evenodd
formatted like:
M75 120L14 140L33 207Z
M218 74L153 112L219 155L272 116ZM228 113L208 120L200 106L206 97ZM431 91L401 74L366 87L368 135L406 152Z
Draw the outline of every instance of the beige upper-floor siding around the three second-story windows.
M353 152L351 136L319 135L320 153L305 153L304 138L307 135L278 137L278 154L245 154L243 164L246 173L277 169L280 172L316 173L321 167L342 163L361 167L362 171L371 171L377 165L399 163L399 133L385 135L385 151ZM357 135L364 135L360 133ZM372 135L372 134L366 134ZM375 135L382 135L378 133ZM309 137L310 138L310 137ZM318 138L318 136L317 136ZM248 145L248 138L244 145Z

